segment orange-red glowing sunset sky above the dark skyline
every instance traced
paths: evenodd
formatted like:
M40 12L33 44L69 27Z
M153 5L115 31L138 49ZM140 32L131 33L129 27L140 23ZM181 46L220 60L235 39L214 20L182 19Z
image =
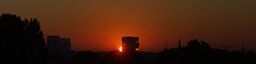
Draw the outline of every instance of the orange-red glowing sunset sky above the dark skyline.
M182 47L192 39L211 47L256 51L256 0L0 0L0 13L40 20L45 39L71 38L72 49L112 51L122 36L138 36L140 51ZM232 49L232 48L230 48Z

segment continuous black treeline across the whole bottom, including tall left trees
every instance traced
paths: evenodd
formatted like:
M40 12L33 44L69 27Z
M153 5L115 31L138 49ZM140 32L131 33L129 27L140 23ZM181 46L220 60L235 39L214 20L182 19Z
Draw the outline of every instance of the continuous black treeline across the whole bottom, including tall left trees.
M209 44L191 40L186 47L165 49L159 53L135 52L76 52L70 60L47 52L44 35L37 19L20 19L3 13L0 17L1 63L25 64L156 64L156 63L214 63L255 61L255 52L230 52L212 49Z

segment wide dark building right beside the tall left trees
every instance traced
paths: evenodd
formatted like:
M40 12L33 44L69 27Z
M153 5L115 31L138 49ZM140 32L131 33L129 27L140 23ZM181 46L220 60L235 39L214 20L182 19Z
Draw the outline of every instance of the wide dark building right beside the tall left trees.
M60 38L60 36L47 36L47 47L50 54L63 56L65 60L71 59L70 38Z

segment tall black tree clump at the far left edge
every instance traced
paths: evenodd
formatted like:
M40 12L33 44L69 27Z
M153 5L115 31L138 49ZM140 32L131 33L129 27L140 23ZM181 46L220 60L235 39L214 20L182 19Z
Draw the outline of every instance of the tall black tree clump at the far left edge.
M2 13L0 29L1 58L14 63L42 63L45 60L45 40L37 19L21 20L17 15Z

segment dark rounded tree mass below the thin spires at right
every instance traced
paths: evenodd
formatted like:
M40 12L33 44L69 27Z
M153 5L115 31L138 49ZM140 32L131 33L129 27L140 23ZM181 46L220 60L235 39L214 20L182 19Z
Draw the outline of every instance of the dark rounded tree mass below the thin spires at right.
M240 51L230 52L221 49L212 49L204 41L191 40L186 47L180 49L172 48L159 52L157 61L159 63L198 63L198 62L239 62L255 61L255 58L242 58L245 56L255 57L255 52L248 51L246 55Z

